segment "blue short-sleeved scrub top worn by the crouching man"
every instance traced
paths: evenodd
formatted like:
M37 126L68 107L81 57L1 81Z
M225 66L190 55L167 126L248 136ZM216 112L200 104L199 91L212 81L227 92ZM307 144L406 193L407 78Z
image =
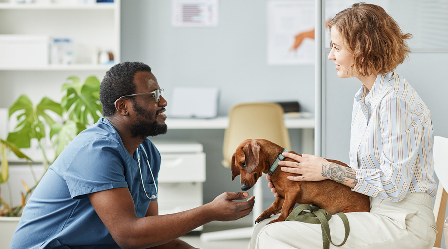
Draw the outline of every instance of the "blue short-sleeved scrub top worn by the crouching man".
M154 183L145 154L140 152L145 189L148 196L156 195L160 153L149 139L142 145L155 179ZM23 210L10 249L119 248L87 194L127 187L134 199L137 216L144 217L150 200L143 190L136 159L127 152L121 137L105 118L81 132L50 166L34 190Z

